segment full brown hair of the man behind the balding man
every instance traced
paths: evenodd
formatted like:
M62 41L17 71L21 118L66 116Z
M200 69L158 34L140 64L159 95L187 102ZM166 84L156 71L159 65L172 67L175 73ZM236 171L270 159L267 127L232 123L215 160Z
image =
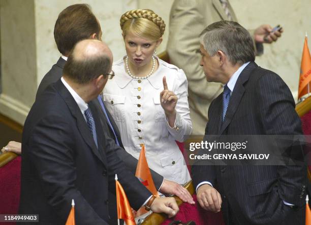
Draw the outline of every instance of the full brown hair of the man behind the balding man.
M74 45L101 31L100 24L87 4L75 4L61 11L54 27L58 51L66 55Z

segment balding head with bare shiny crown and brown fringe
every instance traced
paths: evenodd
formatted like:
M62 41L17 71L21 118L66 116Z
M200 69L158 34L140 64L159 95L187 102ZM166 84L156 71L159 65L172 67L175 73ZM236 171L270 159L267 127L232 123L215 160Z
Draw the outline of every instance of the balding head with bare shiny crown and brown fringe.
M64 66L64 76L78 84L87 84L109 73L112 53L109 47L98 40L78 42Z

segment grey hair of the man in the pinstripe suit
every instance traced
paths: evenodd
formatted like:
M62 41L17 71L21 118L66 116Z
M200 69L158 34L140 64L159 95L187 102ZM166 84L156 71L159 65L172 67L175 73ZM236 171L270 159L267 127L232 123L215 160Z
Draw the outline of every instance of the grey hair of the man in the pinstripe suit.
M201 44L210 56L221 50L233 65L255 60L251 34L237 22L223 20L212 23L200 36Z

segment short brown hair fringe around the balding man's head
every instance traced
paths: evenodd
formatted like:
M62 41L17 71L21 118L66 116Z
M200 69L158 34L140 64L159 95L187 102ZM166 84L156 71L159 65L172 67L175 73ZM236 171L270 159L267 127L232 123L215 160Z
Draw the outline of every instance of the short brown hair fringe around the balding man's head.
M70 53L64 66L64 76L78 84L87 84L110 70L110 58L105 54L76 59L74 51Z

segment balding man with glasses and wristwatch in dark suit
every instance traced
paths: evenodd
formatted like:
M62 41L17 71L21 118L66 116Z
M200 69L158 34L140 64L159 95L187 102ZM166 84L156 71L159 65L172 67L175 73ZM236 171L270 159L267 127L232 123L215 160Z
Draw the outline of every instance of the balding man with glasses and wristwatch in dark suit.
M30 109L22 137L21 214L39 214L42 224L64 224L74 199L77 224L108 224L114 174L134 209L148 205L170 216L178 211L173 198L151 196L105 138L100 111L91 101L112 77L111 66L104 43L77 43L64 76Z

